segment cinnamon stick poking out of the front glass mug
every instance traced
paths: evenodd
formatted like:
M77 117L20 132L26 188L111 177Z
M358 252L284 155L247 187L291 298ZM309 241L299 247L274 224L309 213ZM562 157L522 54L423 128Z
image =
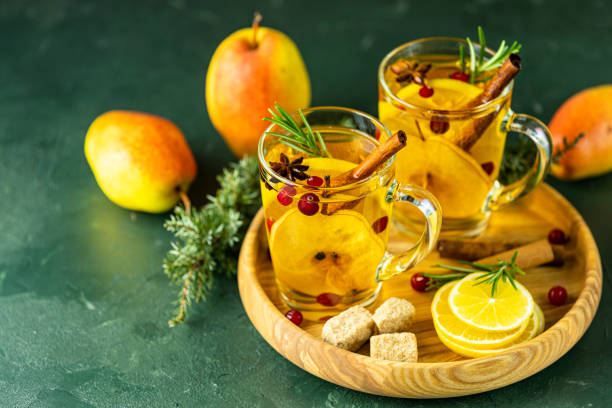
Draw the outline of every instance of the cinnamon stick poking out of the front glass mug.
M389 160L395 153L406 146L406 133L398 130L392 137L379 144L366 156L357 167L345 173L331 177L329 182L326 180L326 187L340 187L355 183L359 180L370 177L378 168ZM329 197L329 195L325 195ZM352 208L357 205L359 200L344 201L339 203L326 203L321 209L321 213L331 215L343 208Z

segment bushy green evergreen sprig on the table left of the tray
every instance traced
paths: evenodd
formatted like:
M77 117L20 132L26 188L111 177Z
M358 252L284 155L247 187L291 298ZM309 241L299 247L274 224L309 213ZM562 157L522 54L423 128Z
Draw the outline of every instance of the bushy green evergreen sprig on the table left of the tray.
M194 300L206 298L215 274L236 274L239 244L259 207L259 168L254 157L232 163L217 181L220 188L208 196L208 204L200 209L177 205L164 223L177 239L163 261L164 273L181 286L170 327L185 320Z

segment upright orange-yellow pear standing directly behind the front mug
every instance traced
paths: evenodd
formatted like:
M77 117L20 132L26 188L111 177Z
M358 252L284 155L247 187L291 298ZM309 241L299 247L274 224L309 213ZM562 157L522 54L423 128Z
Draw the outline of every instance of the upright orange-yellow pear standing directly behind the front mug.
M269 126L262 119L278 102L288 112L310 105L310 79L302 56L289 37L253 27L231 34L217 47L206 74L206 107L214 127L232 152L255 154Z

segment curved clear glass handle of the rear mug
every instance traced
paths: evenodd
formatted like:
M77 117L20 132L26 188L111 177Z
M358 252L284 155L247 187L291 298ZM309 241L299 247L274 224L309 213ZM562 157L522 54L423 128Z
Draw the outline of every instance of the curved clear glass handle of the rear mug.
M551 160L552 136L546 125L539 119L509 111L508 119L502 123L502 128L506 131L517 132L527 136L535 143L538 155L533 167L523 178L512 184L501 186L499 192L489 201L488 210L496 210L505 204L516 201L533 190L546 176Z

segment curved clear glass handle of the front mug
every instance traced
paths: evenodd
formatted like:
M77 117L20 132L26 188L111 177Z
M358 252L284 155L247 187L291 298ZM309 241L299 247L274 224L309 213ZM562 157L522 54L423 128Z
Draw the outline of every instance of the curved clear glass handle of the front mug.
M413 205L425 216L425 229L418 242L401 254L386 253L376 269L376 282L385 281L412 268L434 249L442 225L442 208L431 193L422 188L393 181L386 196L387 202Z

